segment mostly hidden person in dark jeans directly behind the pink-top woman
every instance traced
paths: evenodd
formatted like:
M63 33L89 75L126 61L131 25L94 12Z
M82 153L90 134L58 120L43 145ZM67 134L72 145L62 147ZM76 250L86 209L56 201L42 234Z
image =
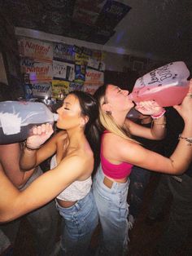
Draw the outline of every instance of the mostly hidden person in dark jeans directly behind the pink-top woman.
M141 126L151 128L153 125L153 119L151 116L142 115L138 113L137 124ZM163 126L163 125L161 125ZM164 126L166 126L166 121L164 121ZM145 139L142 137L133 136L133 139L136 139L141 145L147 149L150 149L154 152L164 153L164 141L155 140L155 139ZM143 196L146 190L146 185L149 183L151 178L151 171L133 166L132 172L129 176L129 228L133 227L133 223L137 219L138 214L142 208Z

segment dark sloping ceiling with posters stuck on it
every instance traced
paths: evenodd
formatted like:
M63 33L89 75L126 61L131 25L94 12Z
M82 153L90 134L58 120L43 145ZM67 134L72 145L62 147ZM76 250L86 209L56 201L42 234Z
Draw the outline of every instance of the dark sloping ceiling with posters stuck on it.
M161 60L191 60L191 0L0 0L15 27Z

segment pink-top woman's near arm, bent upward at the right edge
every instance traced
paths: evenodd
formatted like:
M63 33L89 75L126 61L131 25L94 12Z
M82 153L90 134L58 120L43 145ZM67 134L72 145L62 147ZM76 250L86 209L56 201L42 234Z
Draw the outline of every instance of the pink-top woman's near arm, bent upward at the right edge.
M180 106L174 106L185 122L184 130L181 133L181 139L177 144L177 148L172 156L167 158L155 152L151 152L137 143L129 140L116 139L116 147L114 147L113 138L111 144L107 147L112 151L116 151L116 157L120 161L127 161L135 166L141 166L148 170L159 171L168 174L182 174L189 166L192 160L192 83L188 95L185 96ZM111 135L116 136L116 135ZM117 137L117 136L116 136ZM179 139L179 138L178 138ZM114 152L113 152L114 155Z

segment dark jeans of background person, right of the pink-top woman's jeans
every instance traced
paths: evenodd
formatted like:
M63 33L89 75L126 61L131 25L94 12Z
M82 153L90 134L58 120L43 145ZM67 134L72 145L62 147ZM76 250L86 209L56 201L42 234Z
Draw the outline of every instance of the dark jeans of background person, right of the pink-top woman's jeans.
M143 196L146 185L149 183L150 175L150 170L133 166L129 177L129 214L132 214L134 218L137 218L142 208Z

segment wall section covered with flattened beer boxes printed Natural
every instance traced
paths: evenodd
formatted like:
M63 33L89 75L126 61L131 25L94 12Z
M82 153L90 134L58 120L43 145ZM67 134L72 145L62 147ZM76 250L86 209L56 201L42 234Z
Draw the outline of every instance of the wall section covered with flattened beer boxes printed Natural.
M102 51L24 37L18 45L26 99L63 99L71 90L93 94L103 85Z

